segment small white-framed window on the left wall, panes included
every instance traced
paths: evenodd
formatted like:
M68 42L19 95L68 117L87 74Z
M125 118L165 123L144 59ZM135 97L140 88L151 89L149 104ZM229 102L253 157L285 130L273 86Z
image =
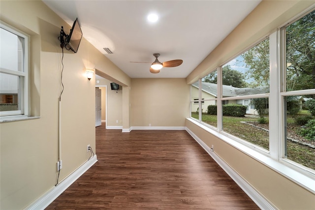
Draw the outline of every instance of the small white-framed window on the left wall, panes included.
M28 115L29 37L1 22L0 116Z

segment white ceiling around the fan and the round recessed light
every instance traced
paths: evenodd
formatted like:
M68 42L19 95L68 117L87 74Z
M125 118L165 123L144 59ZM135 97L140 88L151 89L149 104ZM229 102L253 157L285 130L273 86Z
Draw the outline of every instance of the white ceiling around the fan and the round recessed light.
M260 3L260 0L43 0L131 78L185 78ZM149 23L147 15L158 14ZM67 33L67 32L66 32ZM68 33L67 33L68 34ZM109 47L114 54L107 54ZM78 51L80 50L80 47ZM158 60L179 67L149 72Z

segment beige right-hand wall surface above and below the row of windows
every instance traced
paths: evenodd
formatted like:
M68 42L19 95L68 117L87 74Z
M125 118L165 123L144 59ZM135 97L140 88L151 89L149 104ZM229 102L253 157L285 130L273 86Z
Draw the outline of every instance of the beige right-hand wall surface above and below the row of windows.
M276 30L288 20L305 11L315 1L262 1L257 8L187 77L192 84L211 70L232 59L252 43ZM229 102L230 103L230 102ZM310 210L315 207L315 195L283 175L259 163L223 140L196 126L189 120L186 126L239 175L245 178L267 200L283 210Z

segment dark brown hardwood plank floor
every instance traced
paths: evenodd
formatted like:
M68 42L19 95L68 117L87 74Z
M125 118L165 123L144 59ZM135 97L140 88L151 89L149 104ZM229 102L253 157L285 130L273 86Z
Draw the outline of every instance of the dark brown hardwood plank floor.
M259 209L186 131L96 128L98 162L47 210Z

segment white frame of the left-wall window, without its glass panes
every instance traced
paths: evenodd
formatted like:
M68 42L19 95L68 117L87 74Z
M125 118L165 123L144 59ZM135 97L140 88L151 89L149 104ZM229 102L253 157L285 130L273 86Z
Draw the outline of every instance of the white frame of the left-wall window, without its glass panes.
M22 71L8 70L0 68L1 73L19 76L19 110L0 111L0 120L8 118L21 118L29 115L29 64L30 64L30 36L21 32L18 29L0 22L0 28L24 38L23 56L22 56Z

